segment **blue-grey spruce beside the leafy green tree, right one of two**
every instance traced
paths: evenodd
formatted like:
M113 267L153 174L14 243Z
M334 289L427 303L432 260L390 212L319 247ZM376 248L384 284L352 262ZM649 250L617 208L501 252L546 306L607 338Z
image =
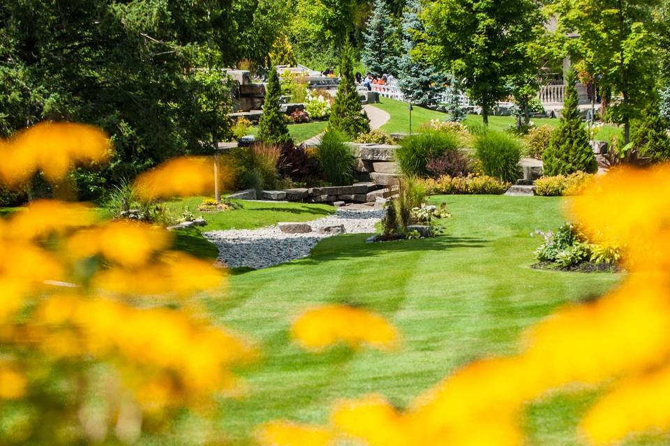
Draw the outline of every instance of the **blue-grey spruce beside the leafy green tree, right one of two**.
M447 77L434 66L412 56L424 32L419 20L421 2L409 0L403 13L403 56L399 63L399 86L408 102L416 105L433 105L445 92Z

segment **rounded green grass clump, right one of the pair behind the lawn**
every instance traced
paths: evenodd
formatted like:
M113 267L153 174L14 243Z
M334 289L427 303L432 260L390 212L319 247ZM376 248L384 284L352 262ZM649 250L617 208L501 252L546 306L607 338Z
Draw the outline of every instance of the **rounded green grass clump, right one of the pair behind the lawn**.
M519 139L504 132L485 132L475 138L484 174L510 183L519 179L522 147Z

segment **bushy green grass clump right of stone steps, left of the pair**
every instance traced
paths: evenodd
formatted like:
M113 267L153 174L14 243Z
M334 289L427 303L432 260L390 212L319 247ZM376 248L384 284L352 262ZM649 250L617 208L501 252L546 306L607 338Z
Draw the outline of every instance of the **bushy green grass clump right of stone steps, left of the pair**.
M396 161L405 176L426 177L431 174L427 164L446 151L458 150L460 140L453 132L435 130L412 134L400 141Z

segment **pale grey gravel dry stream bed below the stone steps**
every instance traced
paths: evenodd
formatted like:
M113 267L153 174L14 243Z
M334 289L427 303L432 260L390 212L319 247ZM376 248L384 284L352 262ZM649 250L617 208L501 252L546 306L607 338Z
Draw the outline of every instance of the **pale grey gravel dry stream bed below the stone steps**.
M308 256L320 240L331 236L317 233L320 226L343 224L348 234L375 233L375 224L385 212L338 209L334 215L307 222L312 226L310 233L288 234L281 232L278 226L266 226L251 230L209 231L204 236L218 247L218 260L225 266L267 268Z

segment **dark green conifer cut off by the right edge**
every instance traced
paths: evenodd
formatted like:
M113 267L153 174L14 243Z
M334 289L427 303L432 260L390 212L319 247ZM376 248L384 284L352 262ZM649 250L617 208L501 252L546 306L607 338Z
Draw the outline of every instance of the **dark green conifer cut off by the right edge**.
M633 123L631 142L637 152L654 161L670 160L670 136L667 122L660 116L657 102L650 102L642 117Z

